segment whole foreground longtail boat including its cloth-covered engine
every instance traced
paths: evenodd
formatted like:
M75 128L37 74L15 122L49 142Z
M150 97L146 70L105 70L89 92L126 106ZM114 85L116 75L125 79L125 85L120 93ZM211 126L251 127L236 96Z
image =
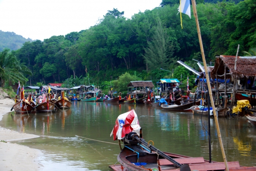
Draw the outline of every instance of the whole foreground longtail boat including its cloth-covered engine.
M134 110L116 119L111 135L119 141L118 165L109 165L113 171L225 171L224 162L205 160L204 157L188 157L160 151L152 141L142 136L137 114ZM121 141L124 143L121 145ZM122 148L123 147L123 148ZM239 162L227 162L230 171L256 171L256 167L240 166Z

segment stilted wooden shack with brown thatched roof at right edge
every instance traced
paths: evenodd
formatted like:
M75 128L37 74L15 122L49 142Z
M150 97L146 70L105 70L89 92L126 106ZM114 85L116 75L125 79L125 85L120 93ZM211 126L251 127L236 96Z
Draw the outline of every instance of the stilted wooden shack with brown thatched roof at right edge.
M237 100L250 99L250 103L255 105L254 96L256 94L256 56L228 56L220 55L215 57L215 66L211 72L211 78L215 81L216 92L227 98L227 94L232 94L231 106ZM220 85L224 84L224 89ZM223 86L222 86L223 87Z

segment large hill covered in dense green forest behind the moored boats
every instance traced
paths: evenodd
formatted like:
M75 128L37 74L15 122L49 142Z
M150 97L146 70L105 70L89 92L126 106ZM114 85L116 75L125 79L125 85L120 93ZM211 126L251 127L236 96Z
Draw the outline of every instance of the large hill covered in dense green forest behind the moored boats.
M214 62L217 55L236 55L238 44L239 55L256 47L255 4L256 0L197 4L207 62ZM192 85L195 75L177 61L198 70L195 60L201 61L201 49L194 16L190 19L182 14L181 29L178 6L165 4L134 14L131 19L118 9L109 10L89 29L26 42L10 55L31 71L23 74L27 79L23 84L27 85L105 85L125 72L153 82L160 78L186 82L189 76ZM13 83L8 77L2 78Z

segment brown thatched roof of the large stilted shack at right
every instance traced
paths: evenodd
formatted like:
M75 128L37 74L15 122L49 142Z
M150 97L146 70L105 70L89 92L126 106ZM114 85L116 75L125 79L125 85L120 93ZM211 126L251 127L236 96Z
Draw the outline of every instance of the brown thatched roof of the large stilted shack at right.
M224 74L224 65L227 67L226 72L233 76L237 75L247 78L256 76L256 56L238 56L236 70L235 61L236 56L220 55L216 57L215 66L211 72L212 78L215 78L217 70L217 75ZM228 75L227 78L230 78L231 75Z

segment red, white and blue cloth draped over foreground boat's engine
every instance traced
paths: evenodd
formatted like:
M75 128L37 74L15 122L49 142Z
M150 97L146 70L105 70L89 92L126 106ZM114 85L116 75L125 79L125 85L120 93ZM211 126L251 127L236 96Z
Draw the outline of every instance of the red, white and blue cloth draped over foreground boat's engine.
M136 132L140 136L140 124L134 109L117 117L116 125L110 136L113 134L114 140L117 140L122 139L125 137L125 134L130 132Z

